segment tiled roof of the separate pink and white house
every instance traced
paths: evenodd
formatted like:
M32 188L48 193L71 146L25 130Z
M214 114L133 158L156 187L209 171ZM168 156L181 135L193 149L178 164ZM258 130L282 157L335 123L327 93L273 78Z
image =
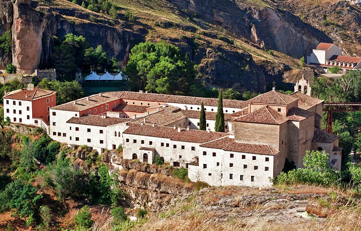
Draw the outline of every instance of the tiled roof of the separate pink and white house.
M7 92L3 97L4 99L34 101L55 95L55 91L44 90L40 88L34 88L34 90L19 89L15 91Z

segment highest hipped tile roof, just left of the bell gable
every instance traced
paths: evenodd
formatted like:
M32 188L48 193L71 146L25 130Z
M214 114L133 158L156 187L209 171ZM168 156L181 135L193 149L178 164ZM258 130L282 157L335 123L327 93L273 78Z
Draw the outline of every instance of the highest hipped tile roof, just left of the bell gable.
M247 100L247 103L258 103L258 104L275 104L275 105L288 105L297 98L294 98L290 95L283 94L278 91L269 91L262 95L258 95L252 99Z

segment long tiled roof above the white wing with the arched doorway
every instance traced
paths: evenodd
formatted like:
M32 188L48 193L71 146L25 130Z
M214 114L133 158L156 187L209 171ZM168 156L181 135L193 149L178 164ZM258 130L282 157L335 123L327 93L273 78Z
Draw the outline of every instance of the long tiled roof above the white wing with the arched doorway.
M178 132L178 129L174 129L173 127L153 127L149 125L131 125L129 128L127 128L127 130L123 132L123 134L168 138L174 141L199 144L206 143L227 135L226 133L222 132L207 132L201 130L186 129L181 129L181 132Z

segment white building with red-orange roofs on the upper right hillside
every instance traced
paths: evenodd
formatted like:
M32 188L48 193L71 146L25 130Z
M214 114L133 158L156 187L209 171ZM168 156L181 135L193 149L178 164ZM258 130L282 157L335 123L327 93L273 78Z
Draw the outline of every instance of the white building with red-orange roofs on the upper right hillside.
M342 55L342 50L333 43L321 42L316 49L313 49L310 56L307 56L307 64L318 67L324 73L328 68L339 67L343 73L349 70L361 69L361 57Z

